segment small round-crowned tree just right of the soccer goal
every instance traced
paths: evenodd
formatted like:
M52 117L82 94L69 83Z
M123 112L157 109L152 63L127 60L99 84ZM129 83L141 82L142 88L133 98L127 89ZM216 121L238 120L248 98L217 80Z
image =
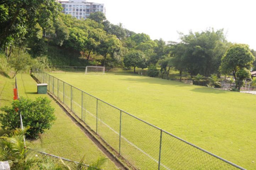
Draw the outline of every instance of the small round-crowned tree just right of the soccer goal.
M124 56L123 63L125 67L133 67L133 73L135 73L135 68L139 67L141 60L143 58L143 52L141 51L130 51Z

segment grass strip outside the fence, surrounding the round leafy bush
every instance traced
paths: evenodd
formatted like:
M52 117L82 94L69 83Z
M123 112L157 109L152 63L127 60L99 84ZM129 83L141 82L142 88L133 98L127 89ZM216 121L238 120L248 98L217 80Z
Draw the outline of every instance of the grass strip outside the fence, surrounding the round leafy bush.
M14 79L0 75L0 107L12 102L14 82ZM17 82L19 96L31 99L39 96L50 98L48 95L36 94L36 82L28 74L18 74ZM52 100L51 104L55 108L57 119L52 128L41 135L40 139L29 142L31 148L76 161L85 155L88 163L106 157L55 101ZM116 166L108 160L106 169L116 169Z

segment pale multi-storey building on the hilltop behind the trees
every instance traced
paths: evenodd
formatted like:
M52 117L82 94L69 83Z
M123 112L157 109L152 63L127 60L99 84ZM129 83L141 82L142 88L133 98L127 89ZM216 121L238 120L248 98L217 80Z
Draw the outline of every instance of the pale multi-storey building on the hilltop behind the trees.
M93 12L103 12L105 14L104 4L87 2L86 0L58 0L58 2L63 7L63 13L77 19L86 19Z

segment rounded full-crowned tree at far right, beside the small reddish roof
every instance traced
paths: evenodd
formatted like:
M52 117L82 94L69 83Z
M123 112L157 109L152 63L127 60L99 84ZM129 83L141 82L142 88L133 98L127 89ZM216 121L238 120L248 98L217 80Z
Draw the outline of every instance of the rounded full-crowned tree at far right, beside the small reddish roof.
M236 80L236 72L239 69L250 69L255 57L252 55L249 46L245 44L232 45L221 58L221 72L228 74L233 72Z

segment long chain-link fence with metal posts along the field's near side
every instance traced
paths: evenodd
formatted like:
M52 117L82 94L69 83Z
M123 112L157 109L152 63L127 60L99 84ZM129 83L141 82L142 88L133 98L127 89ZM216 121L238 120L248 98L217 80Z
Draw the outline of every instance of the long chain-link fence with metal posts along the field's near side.
M48 73L32 73L137 169L244 169Z

